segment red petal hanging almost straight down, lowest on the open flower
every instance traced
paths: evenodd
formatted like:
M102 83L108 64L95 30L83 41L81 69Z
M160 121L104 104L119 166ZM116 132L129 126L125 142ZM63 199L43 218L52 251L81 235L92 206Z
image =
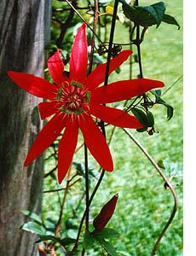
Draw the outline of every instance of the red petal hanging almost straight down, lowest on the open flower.
M78 141L78 119L76 116L67 119L66 131L59 144L59 160L58 160L58 181L61 184L69 166L72 163L72 156L75 152Z

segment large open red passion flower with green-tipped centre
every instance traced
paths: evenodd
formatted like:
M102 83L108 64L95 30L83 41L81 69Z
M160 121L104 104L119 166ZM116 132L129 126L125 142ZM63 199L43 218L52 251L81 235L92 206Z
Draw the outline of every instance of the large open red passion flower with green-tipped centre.
M64 64L61 59L61 49L52 55L48 61L49 74L55 84L38 78L32 74L9 71L9 77L20 88L34 96L42 97L49 102L38 104L41 119L55 114L44 125L32 144L24 166L53 143L63 128L65 131L59 144L58 181L62 182L72 162L72 156L78 141L78 128L82 131L84 141L95 160L107 172L112 172L113 164L110 150L95 118L109 124L126 128L141 128L139 121L128 113L116 108L110 108L103 103L119 102L131 97L141 95L147 90L163 87L160 81L150 79L132 79L119 81L107 86L97 88L105 79L107 64L101 64L87 77L88 49L85 24L80 27L72 44L70 58L70 74L66 76ZM110 63L109 73L112 73L132 52L122 51ZM94 116L94 117L92 117Z

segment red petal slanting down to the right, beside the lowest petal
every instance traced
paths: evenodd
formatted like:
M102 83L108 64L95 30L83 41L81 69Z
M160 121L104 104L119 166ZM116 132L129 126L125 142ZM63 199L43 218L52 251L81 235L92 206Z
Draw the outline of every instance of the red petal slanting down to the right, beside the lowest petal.
M90 153L95 157L95 160L97 160L103 169L107 172L112 172L112 156L106 139L99 127L87 113L80 114L78 117L79 127L83 132L84 141L89 148Z

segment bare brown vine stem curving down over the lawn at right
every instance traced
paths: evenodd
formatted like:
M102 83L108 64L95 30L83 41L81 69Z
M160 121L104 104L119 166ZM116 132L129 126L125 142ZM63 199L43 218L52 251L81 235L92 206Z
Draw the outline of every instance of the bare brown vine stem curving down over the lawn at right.
M138 140L128 131L126 128L123 128L125 133L132 139L132 141L138 146L138 148L141 149L141 151L147 156L147 159L151 161L152 165L155 167L155 169L159 172L160 176L163 177L164 182L167 184L167 186L170 188L170 191L174 197L174 208L173 211L171 212L170 218L167 221L167 223L164 225L164 229L159 235L158 240L155 243L155 246L153 247L153 252L151 253L151 256L156 255L157 248L159 246L159 242L161 241L162 237L164 236L165 231L168 229L170 226L173 218L175 217L176 211L177 211L177 195L176 191L173 188L173 186L170 184L170 181L164 176L164 173L160 170L158 164L153 160L153 157L147 152L145 148L142 147L141 143L138 142Z

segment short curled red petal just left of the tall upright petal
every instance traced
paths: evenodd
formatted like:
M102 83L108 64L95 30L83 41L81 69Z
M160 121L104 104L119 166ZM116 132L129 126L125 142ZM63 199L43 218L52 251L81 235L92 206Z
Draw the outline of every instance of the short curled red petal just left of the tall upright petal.
M59 49L55 55L52 55L49 58L48 61L48 67L49 67L49 74L51 76L51 78L53 79L53 81L55 82L55 84L59 85L61 87L61 84L65 81L68 81L68 79L66 78L65 75L63 75L63 71L64 71L64 64L63 61L61 59L61 49Z

